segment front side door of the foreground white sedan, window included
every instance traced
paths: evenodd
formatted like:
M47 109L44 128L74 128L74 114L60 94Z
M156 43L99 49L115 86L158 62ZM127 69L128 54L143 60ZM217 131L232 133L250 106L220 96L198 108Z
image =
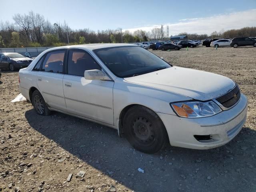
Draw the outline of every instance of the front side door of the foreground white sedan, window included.
M63 90L71 114L113 125L114 81L86 80L85 70L102 70L92 56L80 49L68 51Z

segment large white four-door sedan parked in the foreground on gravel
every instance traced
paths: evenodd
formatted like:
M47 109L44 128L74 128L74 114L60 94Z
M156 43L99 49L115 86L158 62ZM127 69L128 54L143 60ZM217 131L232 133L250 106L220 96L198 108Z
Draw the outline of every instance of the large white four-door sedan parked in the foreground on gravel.
M48 49L19 72L40 115L58 111L118 130L145 153L226 144L246 121L247 99L224 76L173 66L132 44Z

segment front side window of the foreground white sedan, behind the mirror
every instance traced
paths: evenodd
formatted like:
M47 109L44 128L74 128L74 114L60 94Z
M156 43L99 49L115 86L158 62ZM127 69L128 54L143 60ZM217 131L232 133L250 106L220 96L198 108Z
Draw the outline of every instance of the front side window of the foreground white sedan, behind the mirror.
M101 67L98 63L85 51L70 50L68 53L68 74L76 76L84 76L84 71L98 69Z

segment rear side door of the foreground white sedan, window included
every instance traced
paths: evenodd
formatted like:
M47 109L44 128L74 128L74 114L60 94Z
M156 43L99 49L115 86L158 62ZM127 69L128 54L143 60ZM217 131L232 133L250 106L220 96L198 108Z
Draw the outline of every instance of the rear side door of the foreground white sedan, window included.
M62 80L66 50L54 50L44 56L36 83L44 100L51 107L66 111Z

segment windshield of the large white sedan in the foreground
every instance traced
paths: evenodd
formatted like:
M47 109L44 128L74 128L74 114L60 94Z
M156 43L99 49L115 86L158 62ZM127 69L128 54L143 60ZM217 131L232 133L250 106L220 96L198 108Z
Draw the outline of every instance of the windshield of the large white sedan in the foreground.
M94 50L104 64L120 78L132 77L171 67L170 64L138 46Z

